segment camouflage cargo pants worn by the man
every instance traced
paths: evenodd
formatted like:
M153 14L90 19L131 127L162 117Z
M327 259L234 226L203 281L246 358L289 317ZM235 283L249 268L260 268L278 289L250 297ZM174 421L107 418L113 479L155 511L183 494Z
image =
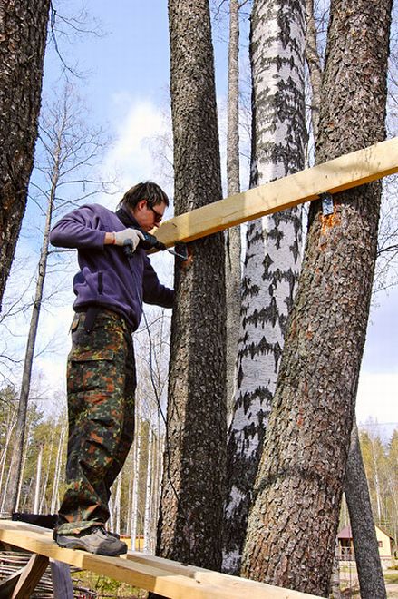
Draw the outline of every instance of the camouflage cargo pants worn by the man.
M136 374L131 333L101 310L90 333L76 314L68 357L69 439L66 491L57 531L78 533L109 518L111 486L134 435Z

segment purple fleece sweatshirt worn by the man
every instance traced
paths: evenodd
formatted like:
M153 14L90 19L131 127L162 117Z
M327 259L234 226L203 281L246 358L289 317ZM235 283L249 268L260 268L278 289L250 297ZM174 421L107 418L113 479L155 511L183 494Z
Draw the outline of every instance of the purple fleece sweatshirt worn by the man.
M73 278L77 298L73 309L103 306L121 313L136 330L142 301L171 308L174 291L160 285L146 251L138 247L127 257L121 246L104 245L106 231L125 226L116 214L100 204L82 206L66 214L50 233L56 247L76 248L80 271Z

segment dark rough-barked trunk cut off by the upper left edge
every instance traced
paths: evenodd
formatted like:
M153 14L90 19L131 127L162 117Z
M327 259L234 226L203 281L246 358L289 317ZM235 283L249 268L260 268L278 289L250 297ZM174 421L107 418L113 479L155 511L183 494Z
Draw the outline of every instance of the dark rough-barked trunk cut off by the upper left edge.
M0 1L0 309L34 163L49 9Z

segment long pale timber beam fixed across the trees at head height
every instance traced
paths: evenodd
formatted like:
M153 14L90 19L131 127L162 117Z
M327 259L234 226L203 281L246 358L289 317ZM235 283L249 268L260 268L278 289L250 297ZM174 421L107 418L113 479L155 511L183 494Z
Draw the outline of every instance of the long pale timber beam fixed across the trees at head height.
M316 200L324 192L337 193L394 172L398 172L398 137L180 214L165 221L156 231L156 237L168 247L178 241L194 241L241 222Z

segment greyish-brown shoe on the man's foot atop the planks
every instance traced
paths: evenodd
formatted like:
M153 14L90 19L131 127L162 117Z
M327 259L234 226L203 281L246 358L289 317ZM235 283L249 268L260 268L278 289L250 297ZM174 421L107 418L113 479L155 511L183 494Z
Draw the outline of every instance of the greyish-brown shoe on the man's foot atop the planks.
M97 555L121 555L127 553L127 545L116 536L107 533L103 526L92 526L78 535L60 535L54 532L54 540L67 549L83 549Z

